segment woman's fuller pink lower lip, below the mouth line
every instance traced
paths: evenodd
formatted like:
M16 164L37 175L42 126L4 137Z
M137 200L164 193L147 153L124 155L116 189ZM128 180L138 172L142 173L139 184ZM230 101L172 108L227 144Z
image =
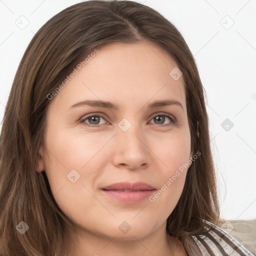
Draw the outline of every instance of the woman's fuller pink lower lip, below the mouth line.
M115 198L121 202L126 203L136 203L148 198L155 189L152 190L142 190L142 191L116 191L116 190L104 190L101 189L104 194Z

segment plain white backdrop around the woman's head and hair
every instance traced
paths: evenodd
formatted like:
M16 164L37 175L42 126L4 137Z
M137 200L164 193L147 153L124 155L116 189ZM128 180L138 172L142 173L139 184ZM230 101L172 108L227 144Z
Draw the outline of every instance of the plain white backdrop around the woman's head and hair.
M32 36L54 14L78 2L0 0L0 120ZM256 0L138 2L170 20L195 57L206 91L221 216L256 218ZM20 29L18 22L29 24ZM234 124L228 131L221 127L226 118Z

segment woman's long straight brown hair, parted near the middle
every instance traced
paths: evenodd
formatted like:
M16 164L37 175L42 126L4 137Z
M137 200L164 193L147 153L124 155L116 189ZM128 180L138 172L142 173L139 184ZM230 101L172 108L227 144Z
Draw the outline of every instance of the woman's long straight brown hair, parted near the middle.
M191 150L201 155L188 169L181 197L167 218L166 230L180 239L189 254L194 244L190 235L204 231L201 219L216 223L219 206L204 92L186 42L170 21L148 6L126 0L89 0L49 19L33 36L15 74L0 135L3 256L61 255L65 215L51 194L45 172L35 171L50 102L47 95L81 57L117 41L154 42L183 73ZM22 235L16 230L20 221L29 226Z

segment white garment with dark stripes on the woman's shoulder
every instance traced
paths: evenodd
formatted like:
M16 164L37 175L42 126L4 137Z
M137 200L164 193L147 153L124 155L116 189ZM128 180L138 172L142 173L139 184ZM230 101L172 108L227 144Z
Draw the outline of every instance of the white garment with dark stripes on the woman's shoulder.
M255 256L226 231L207 220L203 221L207 234L191 235L202 256Z

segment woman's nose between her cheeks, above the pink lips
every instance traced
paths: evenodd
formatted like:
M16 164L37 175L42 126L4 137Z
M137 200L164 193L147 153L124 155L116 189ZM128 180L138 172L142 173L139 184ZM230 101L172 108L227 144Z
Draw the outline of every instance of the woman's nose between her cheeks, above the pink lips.
M117 129L114 136L113 164L128 169L146 168L150 161L150 149L148 148L147 136L141 127L131 127L123 131Z

